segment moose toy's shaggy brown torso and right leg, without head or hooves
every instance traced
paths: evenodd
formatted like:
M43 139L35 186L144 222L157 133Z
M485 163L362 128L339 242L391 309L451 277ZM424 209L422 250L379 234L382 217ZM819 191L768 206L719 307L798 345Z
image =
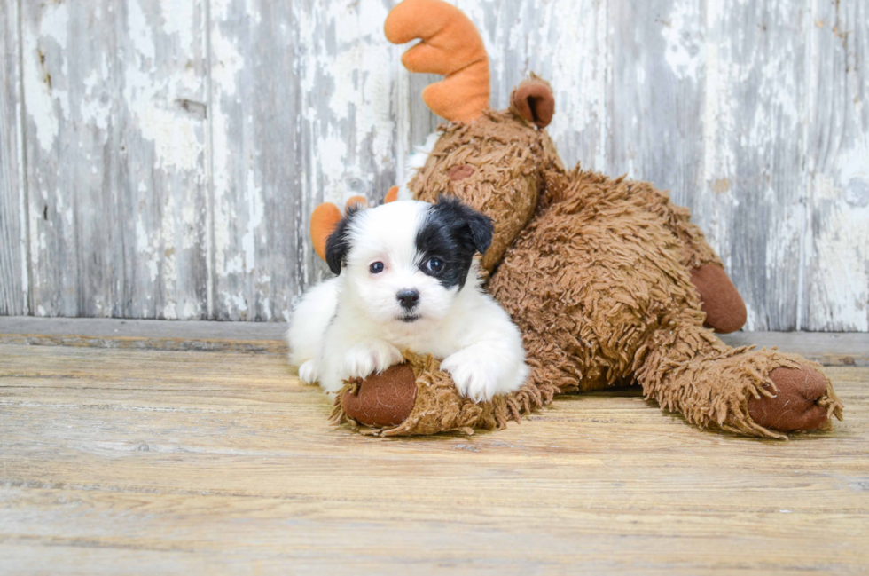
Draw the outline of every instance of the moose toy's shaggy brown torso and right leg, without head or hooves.
M529 383L561 392L639 383L688 422L778 438L748 417L748 403L775 389L772 369L799 369L800 359L731 349L703 327L689 270L717 258L698 252L706 244L686 210L645 183L592 172L548 184L489 282L522 329ZM832 387L824 393L837 410Z

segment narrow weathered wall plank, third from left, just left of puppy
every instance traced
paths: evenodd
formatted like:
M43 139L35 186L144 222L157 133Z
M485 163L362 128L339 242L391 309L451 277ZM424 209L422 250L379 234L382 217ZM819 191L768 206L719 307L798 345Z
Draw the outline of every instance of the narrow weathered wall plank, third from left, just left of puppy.
M211 4L209 317L219 320L283 318L309 265L301 241L313 205L301 192L306 146L298 113L304 106L297 82L299 22L295 11L284 8L270 2Z

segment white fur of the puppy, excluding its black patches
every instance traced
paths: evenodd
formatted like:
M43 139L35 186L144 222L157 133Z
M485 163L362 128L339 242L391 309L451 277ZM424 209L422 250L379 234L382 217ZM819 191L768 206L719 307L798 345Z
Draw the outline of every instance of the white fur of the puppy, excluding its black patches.
M481 291L477 264L460 289L420 271L415 241L430 208L395 201L356 215L346 267L302 297L287 332L290 362L302 381L339 391L344 380L402 362L406 348L442 359L458 390L475 401L525 382L519 329ZM384 271L372 274L374 262ZM418 320L401 320L406 311L396 294L403 289L419 291Z

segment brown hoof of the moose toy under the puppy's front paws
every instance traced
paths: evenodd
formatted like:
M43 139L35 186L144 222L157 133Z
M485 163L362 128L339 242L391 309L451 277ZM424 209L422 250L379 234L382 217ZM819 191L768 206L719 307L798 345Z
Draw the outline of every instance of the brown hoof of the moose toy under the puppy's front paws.
M341 406L356 422L381 428L404 422L416 399L417 378L410 366L399 364L365 378L356 393L344 394Z

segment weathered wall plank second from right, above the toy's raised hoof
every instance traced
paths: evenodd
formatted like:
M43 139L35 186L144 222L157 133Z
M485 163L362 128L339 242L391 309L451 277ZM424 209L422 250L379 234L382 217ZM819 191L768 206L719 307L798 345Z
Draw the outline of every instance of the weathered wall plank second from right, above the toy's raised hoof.
M710 193L695 213L746 301L749 330L796 327L808 4L708 4L704 139Z

